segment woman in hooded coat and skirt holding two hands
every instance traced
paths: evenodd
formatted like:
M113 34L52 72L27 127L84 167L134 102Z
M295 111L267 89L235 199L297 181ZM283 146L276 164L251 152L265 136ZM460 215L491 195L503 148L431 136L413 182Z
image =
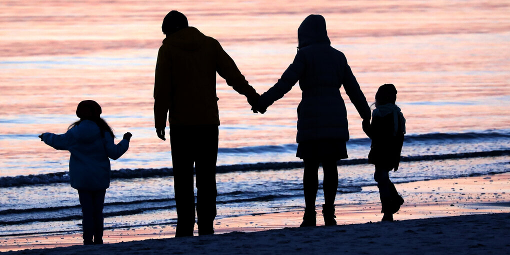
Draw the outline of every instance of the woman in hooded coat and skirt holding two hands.
M363 119L370 120L370 107L345 55L330 46L324 17L310 15L305 18L297 30L297 37L298 52L294 61L282 78L260 96L257 110L265 112L299 81L302 99L297 107L296 157L304 162L305 200L301 226L316 225L315 199L320 163L324 171L324 224L336 225L337 161L348 157L345 143L349 140L347 111L340 87L344 86Z

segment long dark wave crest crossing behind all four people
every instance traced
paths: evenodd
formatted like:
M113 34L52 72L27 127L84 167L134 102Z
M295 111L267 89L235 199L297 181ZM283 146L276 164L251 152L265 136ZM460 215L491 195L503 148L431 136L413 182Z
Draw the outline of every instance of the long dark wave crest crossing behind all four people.
M491 150L491 151L476 151L464 152L456 154L440 154L440 155L421 155L421 156L408 156L401 157L402 162L414 161L432 161L432 160L448 160L448 159L466 159L478 157L498 157L510 155L510 150ZM368 164L367 159L347 159L338 162L338 165L361 165ZM264 162L254 164L235 164L235 165L220 165L216 167L217 173L227 172L242 172L242 171L264 171L264 170L284 170L302 168L304 164L302 161L290 162ZM135 179L135 178L150 178L150 177L163 177L173 176L172 168L137 168L137 169L120 169L111 171L111 179ZM25 185L47 185L55 183L68 183L68 172L56 172L45 174L30 174L18 176L4 176L0 177L0 188L6 187L19 187Z

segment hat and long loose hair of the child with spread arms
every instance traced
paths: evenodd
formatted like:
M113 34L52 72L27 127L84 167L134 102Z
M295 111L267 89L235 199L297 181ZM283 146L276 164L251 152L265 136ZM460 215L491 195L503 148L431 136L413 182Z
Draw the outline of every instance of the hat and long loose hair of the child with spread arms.
M101 115L101 106L97 104L94 100L84 100L81 101L80 104L78 104L78 107L76 108L76 116L80 118L80 120L72 123L67 128L72 129L74 126L79 125L82 123L82 121L88 119L94 121L97 126L99 126L99 130L101 131L101 136L105 136L105 131L110 133L112 137L115 137L113 134L112 128L106 123L106 121L100 117Z

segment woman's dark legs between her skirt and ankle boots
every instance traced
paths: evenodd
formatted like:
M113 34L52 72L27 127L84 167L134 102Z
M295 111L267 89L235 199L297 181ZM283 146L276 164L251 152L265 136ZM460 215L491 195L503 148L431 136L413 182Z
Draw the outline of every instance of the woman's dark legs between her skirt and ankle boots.
M316 159L303 159L303 189L304 203L308 210L315 210L315 199L319 189L319 164L321 161ZM336 160L322 161L324 171L324 205L331 206L335 204L335 197L338 189L338 168Z

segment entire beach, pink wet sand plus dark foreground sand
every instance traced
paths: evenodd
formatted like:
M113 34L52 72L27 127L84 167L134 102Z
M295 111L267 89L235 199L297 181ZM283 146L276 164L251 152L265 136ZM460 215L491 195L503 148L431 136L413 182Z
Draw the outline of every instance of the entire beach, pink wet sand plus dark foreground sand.
M70 254L78 249L88 254L165 250L174 253L385 253L381 251L385 247L388 253L395 249L409 252L418 249L425 253L465 250L498 254L510 250L506 232L510 224L510 173L402 183L396 187L406 202L395 214L394 223L378 222L382 217L378 192L375 186L369 186L363 192L347 194L366 196L364 203L346 204L345 194L337 196L339 225L335 227L297 228L302 209L294 208L279 213L219 216L215 226L217 235L212 237L173 238L175 225L154 225L106 230L104 241L108 244L100 250L73 246L81 245L82 239L81 233L72 232L2 237L0 251L33 249L23 252L45 254ZM323 224L320 216L318 210L318 225Z

